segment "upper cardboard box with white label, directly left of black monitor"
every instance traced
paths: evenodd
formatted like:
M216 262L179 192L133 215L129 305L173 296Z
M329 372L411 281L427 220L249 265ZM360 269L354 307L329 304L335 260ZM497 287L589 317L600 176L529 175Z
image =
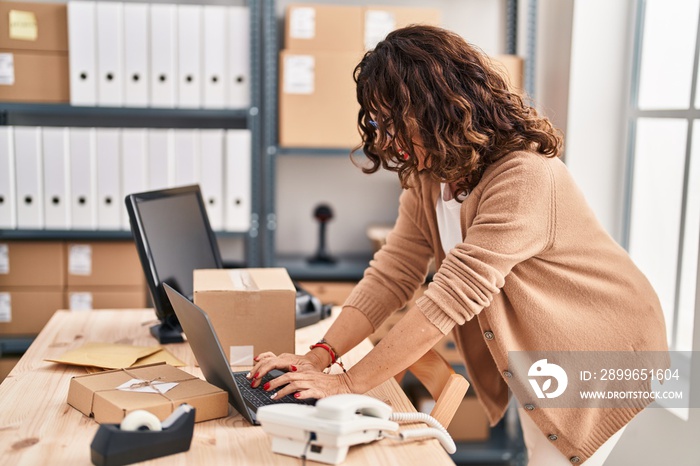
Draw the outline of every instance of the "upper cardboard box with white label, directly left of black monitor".
M66 243L66 284L75 286L145 286L132 241Z

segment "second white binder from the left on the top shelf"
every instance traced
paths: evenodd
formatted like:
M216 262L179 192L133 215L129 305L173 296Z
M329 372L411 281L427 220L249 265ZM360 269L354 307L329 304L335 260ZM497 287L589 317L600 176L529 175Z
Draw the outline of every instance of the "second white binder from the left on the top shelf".
M124 105L124 5L96 2L97 105ZM72 52L71 52L72 54Z

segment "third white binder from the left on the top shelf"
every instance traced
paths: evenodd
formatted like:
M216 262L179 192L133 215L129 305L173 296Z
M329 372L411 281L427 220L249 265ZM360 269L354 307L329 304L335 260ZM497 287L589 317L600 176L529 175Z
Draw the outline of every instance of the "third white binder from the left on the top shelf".
M149 8L124 4L124 106L147 107L149 74Z

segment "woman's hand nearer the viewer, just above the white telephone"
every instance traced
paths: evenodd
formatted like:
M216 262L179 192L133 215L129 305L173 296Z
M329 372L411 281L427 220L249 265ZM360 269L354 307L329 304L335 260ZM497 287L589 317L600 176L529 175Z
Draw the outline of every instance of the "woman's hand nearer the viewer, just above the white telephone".
M281 387L281 388L280 388ZM294 394L294 398L325 398L341 393L353 393L352 383L347 372L342 374L325 374L317 371L287 372L265 384L264 390L274 396L273 399ZM279 390L278 390L279 389ZM275 393L275 391L277 392Z

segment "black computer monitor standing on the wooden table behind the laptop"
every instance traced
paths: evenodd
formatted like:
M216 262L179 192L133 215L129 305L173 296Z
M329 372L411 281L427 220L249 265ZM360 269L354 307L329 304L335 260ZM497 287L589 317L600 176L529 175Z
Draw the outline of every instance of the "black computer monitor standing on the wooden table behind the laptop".
M199 185L126 196L131 232L160 323L151 334L161 343L183 341L163 283L190 300L195 269L222 268Z

